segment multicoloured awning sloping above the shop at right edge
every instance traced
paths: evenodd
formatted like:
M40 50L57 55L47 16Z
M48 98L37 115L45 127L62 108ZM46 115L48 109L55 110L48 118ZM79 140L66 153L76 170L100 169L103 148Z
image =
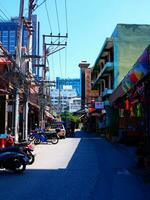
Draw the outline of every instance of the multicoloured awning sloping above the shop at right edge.
M114 102L117 98L125 95L140 80L150 73L150 45L144 50L143 54L138 58L132 69L127 73L119 86L109 97L110 102Z

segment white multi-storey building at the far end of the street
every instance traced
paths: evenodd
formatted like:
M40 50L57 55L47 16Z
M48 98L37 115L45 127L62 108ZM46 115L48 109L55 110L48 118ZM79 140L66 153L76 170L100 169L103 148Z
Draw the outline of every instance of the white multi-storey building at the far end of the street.
M63 89L50 89L51 104L57 113L69 111L69 101L77 97L76 89L72 86L63 86Z

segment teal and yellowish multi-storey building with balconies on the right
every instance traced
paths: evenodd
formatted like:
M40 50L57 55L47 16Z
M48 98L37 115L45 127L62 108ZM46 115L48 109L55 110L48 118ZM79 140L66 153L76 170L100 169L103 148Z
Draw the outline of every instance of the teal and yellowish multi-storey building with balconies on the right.
M92 89L105 101L150 43L150 25L118 24L92 68Z

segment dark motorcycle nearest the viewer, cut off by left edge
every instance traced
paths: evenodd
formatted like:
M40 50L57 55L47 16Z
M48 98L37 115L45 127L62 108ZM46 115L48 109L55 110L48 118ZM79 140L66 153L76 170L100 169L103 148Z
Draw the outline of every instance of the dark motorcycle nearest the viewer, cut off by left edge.
M10 147L0 148L0 168L21 173L29 162L25 154L8 150Z

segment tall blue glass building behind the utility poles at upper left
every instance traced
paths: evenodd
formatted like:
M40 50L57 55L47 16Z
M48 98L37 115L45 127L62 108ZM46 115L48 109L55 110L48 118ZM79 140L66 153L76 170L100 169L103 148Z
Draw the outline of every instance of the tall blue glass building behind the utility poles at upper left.
M37 22L37 16L32 16L32 25L34 32L32 33L32 54L39 55L39 22ZM6 48L9 53L15 56L15 48L17 44L17 30L18 30L18 17L11 18L10 21L0 22L0 41L2 42L4 48ZM28 32L26 27L23 27L22 35L22 46L27 47ZM36 62L34 61L33 64ZM33 67L32 72L39 75L38 70Z

